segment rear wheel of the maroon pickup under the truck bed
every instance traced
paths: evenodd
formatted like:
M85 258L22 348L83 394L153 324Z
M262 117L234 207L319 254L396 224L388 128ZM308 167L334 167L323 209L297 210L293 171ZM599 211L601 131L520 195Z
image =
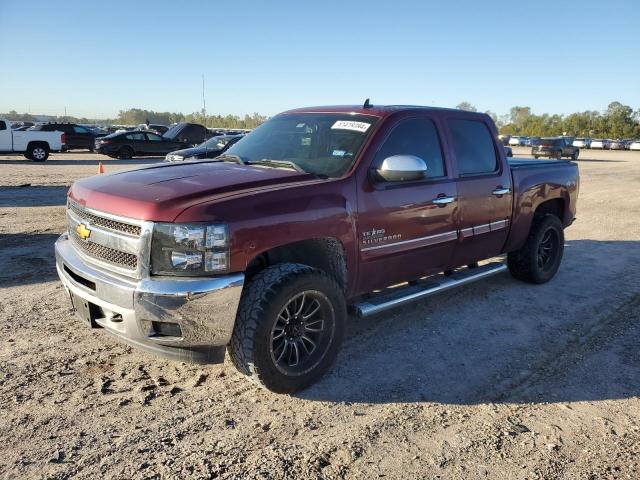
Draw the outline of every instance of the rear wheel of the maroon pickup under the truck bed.
M536 216L527 241L520 250L507 255L509 271L518 280L546 283L551 280L562 261L564 231L560 219L547 214Z

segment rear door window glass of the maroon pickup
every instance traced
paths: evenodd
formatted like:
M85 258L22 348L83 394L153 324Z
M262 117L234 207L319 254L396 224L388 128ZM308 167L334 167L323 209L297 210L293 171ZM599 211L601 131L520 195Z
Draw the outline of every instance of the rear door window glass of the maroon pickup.
M491 132L484 122L449 119L447 124L460 175L493 173L498 169Z

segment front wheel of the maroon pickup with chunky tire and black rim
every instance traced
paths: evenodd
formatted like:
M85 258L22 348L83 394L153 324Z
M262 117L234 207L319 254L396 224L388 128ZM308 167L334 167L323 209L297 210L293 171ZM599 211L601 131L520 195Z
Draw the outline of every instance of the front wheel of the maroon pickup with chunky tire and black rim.
M346 318L342 289L331 276L307 265L276 264L245 286L229 356L259 386L293 393L314 383L331 366Z

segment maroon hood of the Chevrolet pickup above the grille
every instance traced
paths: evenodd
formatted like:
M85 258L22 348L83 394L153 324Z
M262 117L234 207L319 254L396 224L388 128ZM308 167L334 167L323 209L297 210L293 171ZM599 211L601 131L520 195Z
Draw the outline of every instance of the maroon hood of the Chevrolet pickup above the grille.
M173 221L190 206L315 177L283 168L228 162L161 164L75 182L69 197L88 208L151 221Z

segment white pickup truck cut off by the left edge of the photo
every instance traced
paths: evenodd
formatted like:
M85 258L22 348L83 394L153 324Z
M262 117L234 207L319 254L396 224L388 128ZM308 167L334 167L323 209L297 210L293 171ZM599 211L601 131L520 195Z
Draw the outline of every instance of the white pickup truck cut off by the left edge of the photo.
M61 151L64 144L62 132L15 131L9 120L0 118L0 154L24 153L34 162L44 162L49 152Z

